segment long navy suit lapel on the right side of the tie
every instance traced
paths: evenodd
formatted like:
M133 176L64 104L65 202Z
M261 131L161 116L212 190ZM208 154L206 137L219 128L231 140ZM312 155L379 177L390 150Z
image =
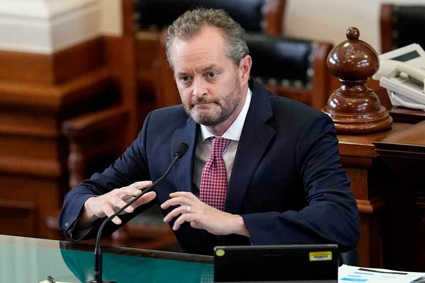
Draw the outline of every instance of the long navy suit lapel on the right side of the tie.
M239 212L246 190L275 130L266 121L273 115L268 92L252 79L252 98L238 143L226 195L225 211Z

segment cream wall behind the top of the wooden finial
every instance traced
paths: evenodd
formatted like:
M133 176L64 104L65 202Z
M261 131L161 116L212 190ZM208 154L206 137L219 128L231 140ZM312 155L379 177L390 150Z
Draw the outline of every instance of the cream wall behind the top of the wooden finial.
M284 33L336 45L347 39L346 30L354 26L360 39L380 53L381 3L425 5L425 0L288 0Z

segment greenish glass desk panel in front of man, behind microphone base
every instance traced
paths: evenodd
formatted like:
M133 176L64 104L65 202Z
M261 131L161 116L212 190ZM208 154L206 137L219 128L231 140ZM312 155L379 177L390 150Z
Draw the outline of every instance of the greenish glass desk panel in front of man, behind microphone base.
M0 235L0 282L93 279L94 246ZM120 247L102 247L103 280L213 282L213 257Z

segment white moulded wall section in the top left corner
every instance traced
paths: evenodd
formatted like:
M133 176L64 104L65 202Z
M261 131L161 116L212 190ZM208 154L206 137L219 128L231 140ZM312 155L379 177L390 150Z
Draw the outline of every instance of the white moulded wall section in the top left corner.
M122 34L121 0L0 0L0 50L52 54Z

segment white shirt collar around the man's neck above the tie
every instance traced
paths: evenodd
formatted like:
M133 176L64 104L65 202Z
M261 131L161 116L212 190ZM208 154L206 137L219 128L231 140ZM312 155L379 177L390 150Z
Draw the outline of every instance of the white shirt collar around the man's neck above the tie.
M248 88L248 92L246 94L246 99L244 106L242 107L241 113L239 113L236 120L230 125L230 127L224 132L223 138L233 140L233 141L239 141L241 134L242 134L242 128L245 123L246 114L248 113L249 104L251 103L251 96L252 92ZM208 128L204 125L201 125L201 140L204 142L206 139L214 137L211 132L209 132Z

